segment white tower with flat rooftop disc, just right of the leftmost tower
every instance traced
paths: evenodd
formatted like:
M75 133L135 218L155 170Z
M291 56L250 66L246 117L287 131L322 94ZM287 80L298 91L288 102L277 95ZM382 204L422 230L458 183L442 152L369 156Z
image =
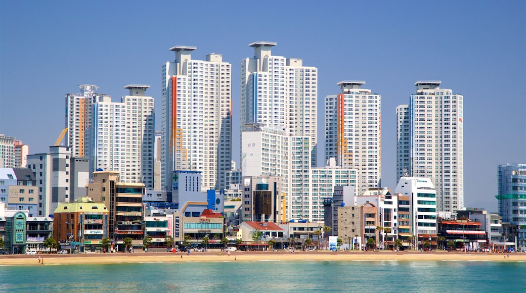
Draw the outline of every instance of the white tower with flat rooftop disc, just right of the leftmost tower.
M148 85L127 85L121 102L101 97L93 104L90 174L120 172L120 182L154 187L154 99L144 95Z

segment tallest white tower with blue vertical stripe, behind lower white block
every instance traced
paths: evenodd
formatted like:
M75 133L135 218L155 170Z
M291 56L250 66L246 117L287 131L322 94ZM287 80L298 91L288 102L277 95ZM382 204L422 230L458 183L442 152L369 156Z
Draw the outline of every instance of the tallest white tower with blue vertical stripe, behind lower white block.
M272 56L276 43L257 41L254 58L241 61L240 127L260 123L310 138L311 166L316 166L318 69L301 59ZM242 161L243 159L241 159Z

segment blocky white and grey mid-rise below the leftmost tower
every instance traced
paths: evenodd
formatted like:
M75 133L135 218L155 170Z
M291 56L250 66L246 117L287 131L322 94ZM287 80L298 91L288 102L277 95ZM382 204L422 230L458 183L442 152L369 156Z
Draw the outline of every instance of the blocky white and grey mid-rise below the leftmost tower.
M49 146L48 153L27 156L27 168L38 187L38 216L53 213L59 203L86 196L89 181L87 158L75 158L69 146Z

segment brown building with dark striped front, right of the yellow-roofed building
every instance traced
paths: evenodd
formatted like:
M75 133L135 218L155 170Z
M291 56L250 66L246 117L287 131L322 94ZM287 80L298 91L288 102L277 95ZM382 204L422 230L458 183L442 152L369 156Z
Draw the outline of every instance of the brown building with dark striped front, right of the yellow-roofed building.
M108 234L115 250L124 251L124 238L131 238L134 247L142 247L143 183L120 182L118 171L95 171L88 183L87 196L102 202L109 211Z

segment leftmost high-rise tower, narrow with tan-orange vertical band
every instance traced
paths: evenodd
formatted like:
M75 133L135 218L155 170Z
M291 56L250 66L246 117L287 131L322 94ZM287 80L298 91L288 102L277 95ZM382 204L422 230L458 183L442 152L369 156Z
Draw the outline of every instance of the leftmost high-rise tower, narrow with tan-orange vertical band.
M88 129L92 125L93 104L101 97L108 97L96 93L95 85L79 85L80 93L66 94L66 138L65 145L69 146L76 158L89 158Z

